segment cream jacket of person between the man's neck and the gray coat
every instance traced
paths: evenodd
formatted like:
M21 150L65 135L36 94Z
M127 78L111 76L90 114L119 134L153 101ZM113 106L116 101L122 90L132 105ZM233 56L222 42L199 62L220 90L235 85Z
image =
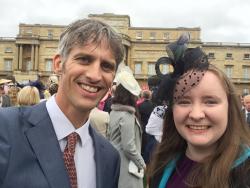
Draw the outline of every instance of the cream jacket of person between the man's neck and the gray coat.
M109 113L104 112L97 107L91 110L89 114L90 125L95 128L102 136L107 138L109 126Z

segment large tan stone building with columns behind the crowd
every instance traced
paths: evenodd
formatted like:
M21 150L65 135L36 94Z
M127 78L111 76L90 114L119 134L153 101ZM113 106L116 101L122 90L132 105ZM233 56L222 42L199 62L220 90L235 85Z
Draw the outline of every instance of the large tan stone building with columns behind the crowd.
M141 86L147 87L148 77L155 74L154 64L166 55L165 46L182 33L191 36L190 47L201 46L210 62L217 65L234 82L238 94L250 93L250 43L202 42L201 29L132 27L128 15L90 14L113 26L123 38L128 65ZM39 74L45 81L53 74L52 58L65 26L20 24L15 38L0 38L0 77L14 75L19 82L35 80ZM162 66L164 72L171 67Z

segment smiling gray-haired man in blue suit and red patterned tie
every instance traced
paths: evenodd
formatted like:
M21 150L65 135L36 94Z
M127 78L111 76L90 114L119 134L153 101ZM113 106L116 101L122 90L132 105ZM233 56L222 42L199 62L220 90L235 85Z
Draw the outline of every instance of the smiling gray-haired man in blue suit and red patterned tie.
M89 113L123 55L110 26L91 19L69 25L53 58L57 93L34 107L0 112L1 188L117 187L119 154L89 126Z

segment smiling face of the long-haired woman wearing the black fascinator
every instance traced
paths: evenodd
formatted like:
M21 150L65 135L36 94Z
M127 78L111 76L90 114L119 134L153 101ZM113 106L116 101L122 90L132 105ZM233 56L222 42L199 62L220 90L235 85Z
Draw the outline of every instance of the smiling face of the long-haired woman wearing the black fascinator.
M207 71L197 86L175 102L173 116L187 152L214 151L228 123L227 94L219 78Z

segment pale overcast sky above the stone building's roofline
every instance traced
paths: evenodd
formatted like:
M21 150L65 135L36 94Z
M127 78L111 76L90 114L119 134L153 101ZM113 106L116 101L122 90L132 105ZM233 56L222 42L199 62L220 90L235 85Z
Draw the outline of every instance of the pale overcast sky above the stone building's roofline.
M203 42L250 43L250 0L0 0L0 37L15 37L19 23L102 13L129 15L132 27L200 27Z

